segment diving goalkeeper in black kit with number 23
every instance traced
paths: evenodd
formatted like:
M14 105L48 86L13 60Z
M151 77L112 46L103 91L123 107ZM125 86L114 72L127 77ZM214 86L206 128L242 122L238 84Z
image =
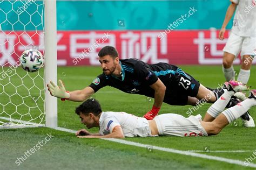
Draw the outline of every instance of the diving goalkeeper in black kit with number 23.
M153 107L144 115L146 119L151 120L158 115L163 102L171 105L196 105L198 100L204 99L208 103L213 103L223 94L222 89L213 92L191 75L168 63L149 65L138 59L119 60L118 52L112 46L103 47L98 55L103 74L98 75L90 86L83 90L68 92L62 81L59 81L60 87L51 81L48 84L51 95L62 100L82 102L100 88L112 86L125 93L153 97ZM231 100L228 105L233 106L236 104L234 102ZM242 118L245 125L253 122L247 113ZM206 115L204 121L211 122L213 119L211 115Z

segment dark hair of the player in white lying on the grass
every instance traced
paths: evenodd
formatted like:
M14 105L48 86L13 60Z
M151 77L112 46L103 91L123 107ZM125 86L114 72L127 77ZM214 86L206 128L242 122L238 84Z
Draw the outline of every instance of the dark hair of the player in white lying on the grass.
M98 116L101 112L102 107L100 107L99 102L94 98L84 101L76 108L77 115L82 113L83 115L87 116L89 113L92 113L93 115Z

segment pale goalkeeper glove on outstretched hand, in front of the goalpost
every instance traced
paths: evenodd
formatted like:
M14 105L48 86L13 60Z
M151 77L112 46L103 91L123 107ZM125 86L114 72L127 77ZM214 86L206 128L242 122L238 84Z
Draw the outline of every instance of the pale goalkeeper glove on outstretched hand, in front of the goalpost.
M70 97L69 91L66 91L65 86L61 80L59 80L59 86L50 81L50 83L47 84L47 87L52 96L61 98L62 101L65 101Z

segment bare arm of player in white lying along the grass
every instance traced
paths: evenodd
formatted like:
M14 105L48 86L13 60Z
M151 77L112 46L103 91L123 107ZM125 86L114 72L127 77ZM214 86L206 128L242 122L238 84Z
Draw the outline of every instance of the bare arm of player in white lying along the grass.
M115 126L112 133L106 135L88 135L88 136L77 136L78 138L124 138L123 129L121 126Z

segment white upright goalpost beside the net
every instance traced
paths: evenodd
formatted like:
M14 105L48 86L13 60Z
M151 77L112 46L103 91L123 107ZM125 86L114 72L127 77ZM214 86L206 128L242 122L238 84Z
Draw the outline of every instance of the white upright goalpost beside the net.
M57 82L57 20L56 0L44 1L45 25L45 87L50 81ZM45 89L47 90L47 89ZM57 124L57 98L52 97L48 91L45 93L45 125L56 128Z

